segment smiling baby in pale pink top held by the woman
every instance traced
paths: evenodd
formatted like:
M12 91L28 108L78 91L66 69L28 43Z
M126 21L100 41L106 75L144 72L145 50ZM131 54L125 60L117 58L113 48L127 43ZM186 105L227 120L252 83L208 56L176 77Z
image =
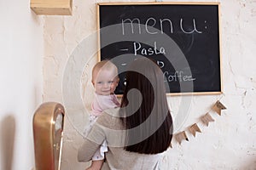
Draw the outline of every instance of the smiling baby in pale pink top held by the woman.
M118 86L119 77L117 67L109 60L98 62L92 69L91 82L95 88L95 99L91 105L91 114L89 116L89 127L87 127L84 135L86 135L92 125L96 122L98 116L110 108L119 107L119 101L113 94ZM104 152L108 151L106 141L102 143L99 150L92 157L92 163L87 169L101 169L104 162Z

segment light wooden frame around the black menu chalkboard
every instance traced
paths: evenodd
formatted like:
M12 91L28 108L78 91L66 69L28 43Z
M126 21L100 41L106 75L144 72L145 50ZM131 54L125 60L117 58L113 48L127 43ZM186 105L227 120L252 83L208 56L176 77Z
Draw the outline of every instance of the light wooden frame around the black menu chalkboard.
M144 2L138 2L138 3L97 3L96 5L96 12L97 12L97 30L98 30L98 49L101 49L101 38L100 38L100 7L104 5L110 5L110 6L118 6L118 5L217 5L218 6L218 55L219 55L219 87L220 90L216 92L178 92L178 93L167 93L166 95L172 95L172 96L178 96L178 95L218 95L223 94L223 81L222 81L222 49L221 49L221 29L220 29L220 3L218 2L165 2L165 3L144 3ZM101 50L98 50L97 52L98 61L101 61Z

